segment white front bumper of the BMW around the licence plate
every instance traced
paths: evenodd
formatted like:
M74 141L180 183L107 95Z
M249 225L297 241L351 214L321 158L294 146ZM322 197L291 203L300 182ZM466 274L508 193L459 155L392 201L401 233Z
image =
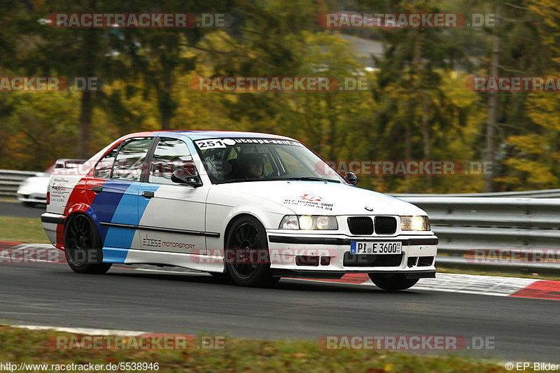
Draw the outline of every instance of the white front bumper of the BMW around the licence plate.
M351 237L344 234L286 234L269 230L270 268L276 276L339 278L347 273L401 273L408 278L435 276L437 237ZM400 241L401 254L351 254L352 241ZM328 259L326 259L328 258Z

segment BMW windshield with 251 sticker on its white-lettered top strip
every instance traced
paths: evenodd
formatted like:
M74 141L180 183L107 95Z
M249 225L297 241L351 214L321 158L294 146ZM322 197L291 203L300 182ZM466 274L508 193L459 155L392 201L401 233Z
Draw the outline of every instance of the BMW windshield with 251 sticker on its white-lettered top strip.
M212 183L302 180L344 183L344 178L298 141L246 138L196 140Z

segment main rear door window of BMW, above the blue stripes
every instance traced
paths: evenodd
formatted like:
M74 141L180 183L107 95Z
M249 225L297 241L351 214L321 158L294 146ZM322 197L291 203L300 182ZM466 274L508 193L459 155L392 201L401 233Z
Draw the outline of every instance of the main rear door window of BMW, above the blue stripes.
M130 139L123 143L113 166L112 178L140 181L151 143L151 137Z

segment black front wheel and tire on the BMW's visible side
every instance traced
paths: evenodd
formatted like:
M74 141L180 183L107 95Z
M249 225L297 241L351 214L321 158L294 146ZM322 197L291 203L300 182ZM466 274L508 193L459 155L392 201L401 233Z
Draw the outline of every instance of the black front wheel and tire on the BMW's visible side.
M225 266L240 286L273 286L267 232L253 216L237 218L225 238Z

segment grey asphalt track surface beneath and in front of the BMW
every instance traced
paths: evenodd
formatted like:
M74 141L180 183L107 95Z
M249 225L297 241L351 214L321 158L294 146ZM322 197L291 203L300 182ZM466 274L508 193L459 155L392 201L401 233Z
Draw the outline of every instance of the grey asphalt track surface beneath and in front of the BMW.
M20 325L316 339L325 335L493 337L493 351L459 355L560 363L560 303L513 297L283 279L241 288L207 274L65 264L0 264L0 321Z

